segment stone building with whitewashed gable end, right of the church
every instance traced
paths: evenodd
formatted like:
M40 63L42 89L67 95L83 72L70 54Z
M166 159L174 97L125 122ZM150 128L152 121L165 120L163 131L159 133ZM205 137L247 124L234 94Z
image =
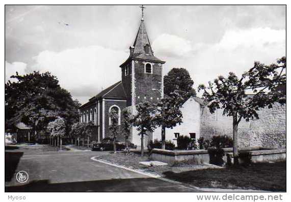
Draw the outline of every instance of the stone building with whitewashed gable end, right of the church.
M166 139L174 140L174 133L190 136L198 140L200 137L211 139L213 136L232 137L232 117L222 115L218 109L211 114L203 100L198 97L189 98L181 108L183 123L167 129ZM239 147L285 147L286 146L286 105L276 103L273 108L264 108L258 112L259 119L239 123Z

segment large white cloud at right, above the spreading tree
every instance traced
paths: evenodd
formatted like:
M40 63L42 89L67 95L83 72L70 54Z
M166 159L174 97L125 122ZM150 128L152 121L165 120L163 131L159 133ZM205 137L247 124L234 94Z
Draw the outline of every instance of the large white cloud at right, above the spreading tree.
M270 64L286 54L285 30L251 28L227 30L214 45L205 45L184 61L195 87L207 84L219 75L234 72L237 76L249 70L254 61Z

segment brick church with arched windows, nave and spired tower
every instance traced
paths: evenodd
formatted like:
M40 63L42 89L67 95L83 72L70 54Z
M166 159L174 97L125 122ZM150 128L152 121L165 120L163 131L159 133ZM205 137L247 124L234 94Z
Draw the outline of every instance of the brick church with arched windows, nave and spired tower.
M163 64L165 61L154 56L150 45L143 17L134 41L129 47L129 57L120 64L121 81L102 90L89 99L89 102L80 107L80 122L94 123L95 141L101 141L110 136L109 127L111 119L109 113L112 110L118 112L118 125L121 125L122 110L128 108L133 112L135 105L141 102L157 103L164 96ZM154 133L160 134L156 129ZM135 128L132 129L131 142L140 145L140 138ZM145 145L148 139L145 138ZM124 137L117 137L124 142Z

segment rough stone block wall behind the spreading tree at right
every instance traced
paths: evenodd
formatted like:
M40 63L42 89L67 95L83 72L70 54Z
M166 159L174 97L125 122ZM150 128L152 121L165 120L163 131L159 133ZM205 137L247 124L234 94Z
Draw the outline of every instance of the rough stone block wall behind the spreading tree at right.
M260 119L240 122L239 147L285 147L286 106L275 104L257 113ZM223 116L221 109L211 114L207 107L201 107L200 136L211 139L215 135L232 137L232 117Z

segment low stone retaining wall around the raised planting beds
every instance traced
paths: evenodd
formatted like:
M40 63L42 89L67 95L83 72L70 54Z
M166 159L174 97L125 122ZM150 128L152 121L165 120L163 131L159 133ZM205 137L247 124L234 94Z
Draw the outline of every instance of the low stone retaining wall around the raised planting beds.
M232 148L223 149L226 155L224 155L224 162L231 161ZM272 161L279 159L286 159L286 149L273 149L262 147L246 147L240 148L240 154L248 153L251 156L252 162ZM197 163L209 163L209 154L207 150L164 150L153 149L150 154L150 160L162 161L169 164L184 160L194 160ZM242 161L241 161L242 162Z

